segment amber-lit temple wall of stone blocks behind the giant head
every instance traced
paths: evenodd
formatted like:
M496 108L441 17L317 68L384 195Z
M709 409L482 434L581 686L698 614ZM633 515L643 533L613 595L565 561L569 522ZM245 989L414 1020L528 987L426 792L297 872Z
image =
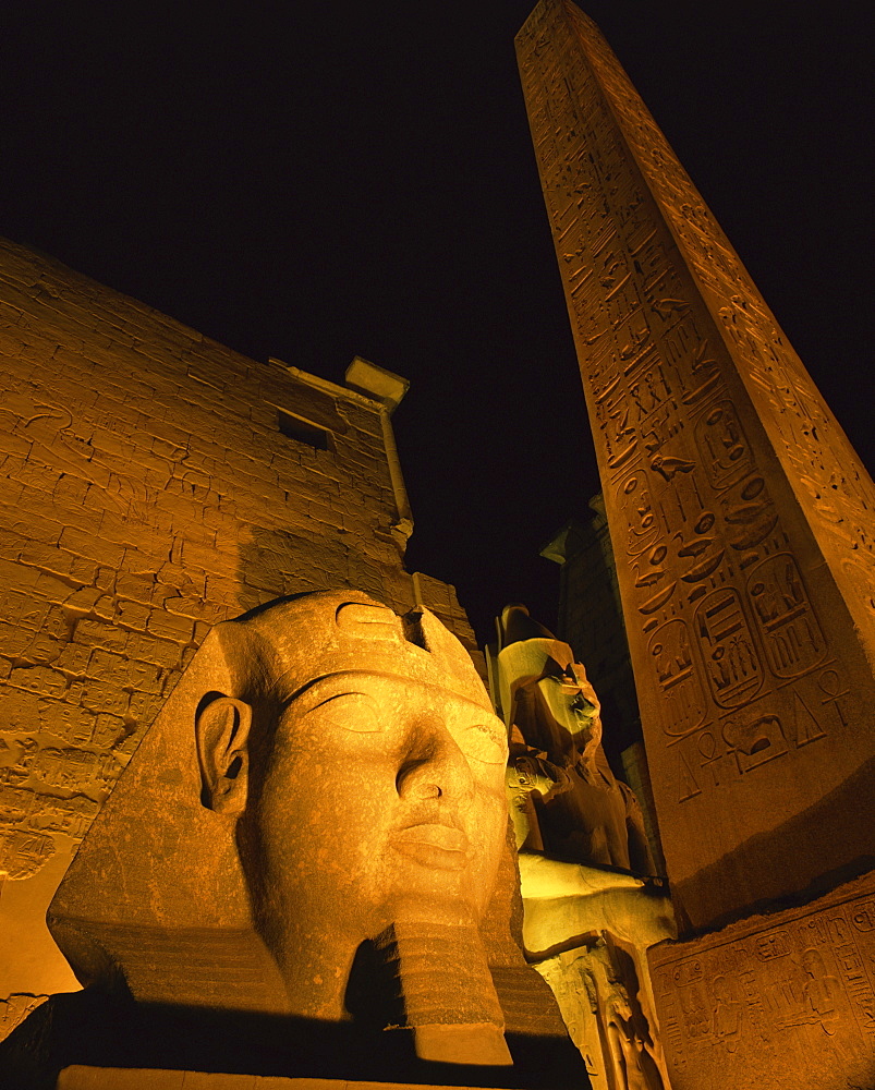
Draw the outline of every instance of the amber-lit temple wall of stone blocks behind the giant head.
M46 909L211 625L354 585L477 655L453 589L403 570L406 383L350 376L247 360L0 241L0 1038L77 988Z

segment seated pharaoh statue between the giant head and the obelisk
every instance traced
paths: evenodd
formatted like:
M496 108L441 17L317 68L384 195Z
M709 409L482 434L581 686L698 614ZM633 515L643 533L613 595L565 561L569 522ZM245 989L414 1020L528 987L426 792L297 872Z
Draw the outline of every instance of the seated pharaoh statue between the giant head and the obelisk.
M593 1086L663 1090L645 952L675 927L637 800L608 765L598 698L571 647L524 606L508 606L499 629L525 949Z

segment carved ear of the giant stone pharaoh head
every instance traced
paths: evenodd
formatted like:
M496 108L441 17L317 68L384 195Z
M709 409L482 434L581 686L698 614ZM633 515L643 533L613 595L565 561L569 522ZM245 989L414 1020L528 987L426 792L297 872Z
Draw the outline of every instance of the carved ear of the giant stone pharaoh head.
M239 814L246 809L252 708L242 700L211 694L195 716L200 801L208 810Z

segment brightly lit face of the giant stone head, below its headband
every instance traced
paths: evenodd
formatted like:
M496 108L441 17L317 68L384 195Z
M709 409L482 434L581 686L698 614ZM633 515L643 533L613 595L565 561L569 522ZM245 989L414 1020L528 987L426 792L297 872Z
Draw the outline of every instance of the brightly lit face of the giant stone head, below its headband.
M280 716L257 810L275 943L374 937L399 912L477 920L503 845L505 729L437 685L321 677Z

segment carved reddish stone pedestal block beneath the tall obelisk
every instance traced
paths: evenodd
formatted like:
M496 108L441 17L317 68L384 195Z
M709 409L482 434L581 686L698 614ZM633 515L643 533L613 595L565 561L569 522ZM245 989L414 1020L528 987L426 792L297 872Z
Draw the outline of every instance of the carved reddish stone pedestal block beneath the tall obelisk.
M672 1090L875 1086L875 871L649 964Z

